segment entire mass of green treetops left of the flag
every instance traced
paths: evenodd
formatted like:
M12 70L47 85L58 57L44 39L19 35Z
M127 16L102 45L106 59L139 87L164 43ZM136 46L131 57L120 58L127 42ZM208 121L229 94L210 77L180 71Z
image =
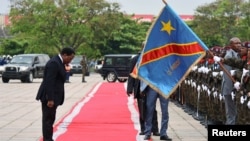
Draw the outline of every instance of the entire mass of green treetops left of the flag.
M104 0L19 0L9 15L13 38L2 44L2 51L52 56L72 47L88 58L136 53L151 23L134 21L119 9L118 3Z

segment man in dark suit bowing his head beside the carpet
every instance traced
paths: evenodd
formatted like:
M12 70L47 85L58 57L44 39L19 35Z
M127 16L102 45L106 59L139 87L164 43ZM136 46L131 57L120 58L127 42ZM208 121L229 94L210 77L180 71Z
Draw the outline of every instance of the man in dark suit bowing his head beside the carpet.
M56 109L64 102L65 64L69 64L74 56L75 51L72 48L63 48L60 54L51 58L45 66L43 81L36 96L36 100L40 100L42 104L44 141L53 141Z

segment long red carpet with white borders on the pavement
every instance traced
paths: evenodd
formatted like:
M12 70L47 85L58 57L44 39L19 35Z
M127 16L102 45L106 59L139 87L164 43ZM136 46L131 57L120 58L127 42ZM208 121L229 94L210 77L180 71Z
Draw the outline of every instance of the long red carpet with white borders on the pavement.
M99 83L54 128L55 141L139 141L138 112L126 83Z

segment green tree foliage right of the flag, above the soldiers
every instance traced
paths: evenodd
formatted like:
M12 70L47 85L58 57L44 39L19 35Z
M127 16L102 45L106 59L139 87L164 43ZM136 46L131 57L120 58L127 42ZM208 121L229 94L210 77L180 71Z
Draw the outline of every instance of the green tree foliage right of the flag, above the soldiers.
M192 28L207 46L226 46L234 36L249 40L249 23L249 2L217 0L196 9Z

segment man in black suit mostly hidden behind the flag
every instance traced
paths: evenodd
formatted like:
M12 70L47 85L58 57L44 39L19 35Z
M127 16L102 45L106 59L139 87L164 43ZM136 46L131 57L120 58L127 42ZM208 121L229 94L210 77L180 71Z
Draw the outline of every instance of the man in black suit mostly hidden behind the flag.
M142 48L144 47L144 43L142 44ZM136 62L140 56L140 53L138 53L134 58L131 60L131 66L130 66L130 73L133 71L134 66L136 65ZM140 135L144 135L145 130L145 115L146 115L146 95L143 95L140 91L140 80L135 79L129 75L128 77L128 83L127 83L127 95L130 96L134 93L134 98L137 100L137 105L139 109L139 121L140 121L140 127L141 132ZM140 102L141 100L144 101L144 103ZM158 128L158 121L157 121L157 111L154 111L153 114L153 120L152 120L152 132L154 136L160 136L159 128Z

